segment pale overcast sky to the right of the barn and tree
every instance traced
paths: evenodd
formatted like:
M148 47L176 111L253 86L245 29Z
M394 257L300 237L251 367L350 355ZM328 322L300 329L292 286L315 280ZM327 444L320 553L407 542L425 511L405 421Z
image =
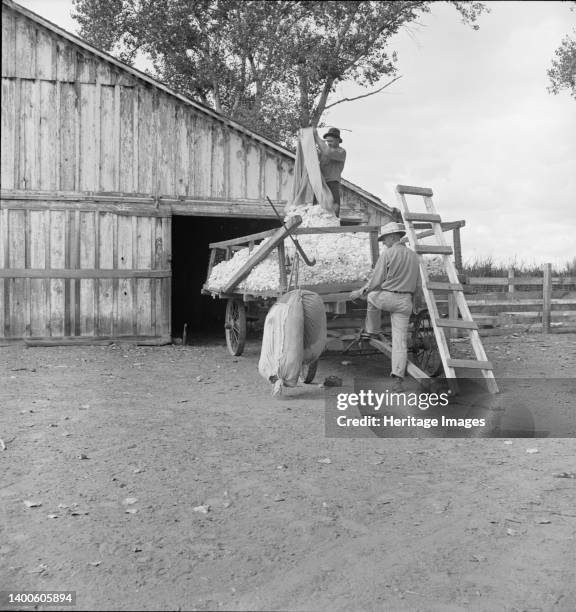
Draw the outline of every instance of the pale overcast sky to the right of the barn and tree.
M72 0L19 3L76 33ZM546 70L576 12L562 2L486 4L478 31L434 5L393 41L402 78L324 121L350 130L350 181L394 206L398 183L431 187L443 219L465 219L465 261L561 267L576 258L576 100L548 94Z

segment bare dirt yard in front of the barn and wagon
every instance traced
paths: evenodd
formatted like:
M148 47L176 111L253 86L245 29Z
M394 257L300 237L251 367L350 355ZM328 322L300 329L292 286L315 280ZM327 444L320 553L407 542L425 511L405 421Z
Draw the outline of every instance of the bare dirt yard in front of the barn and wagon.
M534 407L544 377L576 376L576 335L485 346ZM324 390L272 398L258 355L0 348L0 589L78 610L576 610L574 439L327 438ZM317 380L388 367L343 359Z

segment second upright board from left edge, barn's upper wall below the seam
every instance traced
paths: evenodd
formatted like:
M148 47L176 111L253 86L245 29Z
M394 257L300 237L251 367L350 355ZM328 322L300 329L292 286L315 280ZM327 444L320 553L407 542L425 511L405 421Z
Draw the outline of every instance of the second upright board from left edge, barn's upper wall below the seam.
M39 188L40 82L20 81L20 188Z

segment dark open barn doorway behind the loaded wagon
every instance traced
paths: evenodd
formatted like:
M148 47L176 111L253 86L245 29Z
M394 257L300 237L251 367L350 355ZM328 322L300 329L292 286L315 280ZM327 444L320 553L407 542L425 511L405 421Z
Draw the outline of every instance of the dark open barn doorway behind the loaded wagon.
M172 217L172 336L221 333L226 301L200 293L206 281L211 242L280 227L275 219Z

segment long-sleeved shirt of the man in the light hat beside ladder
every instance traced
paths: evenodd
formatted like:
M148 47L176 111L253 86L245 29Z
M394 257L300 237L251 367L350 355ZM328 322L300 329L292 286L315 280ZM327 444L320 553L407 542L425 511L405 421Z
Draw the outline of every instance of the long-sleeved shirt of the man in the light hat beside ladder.
M418 255L397 242L378 258L366 291L402 291L414 293L420 278Z

